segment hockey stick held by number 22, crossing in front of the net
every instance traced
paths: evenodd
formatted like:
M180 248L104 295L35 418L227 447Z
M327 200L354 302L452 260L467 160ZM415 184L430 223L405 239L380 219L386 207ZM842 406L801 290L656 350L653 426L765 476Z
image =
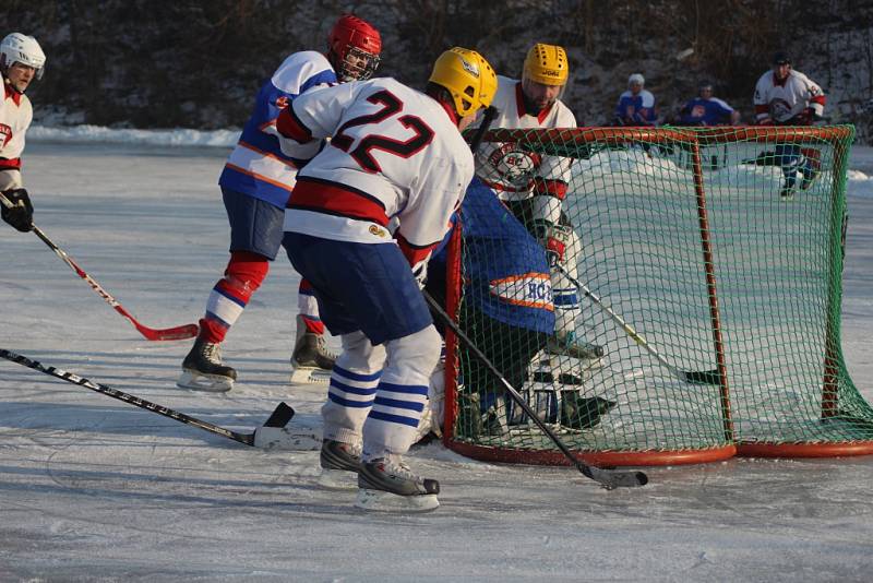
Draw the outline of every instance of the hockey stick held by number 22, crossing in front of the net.
M447 313L445 313L445 310L443 310L442 306L440 306L440 304L427 291L422 290L422 294L424 295L424 300L428 302L428 306L430 306L433 313L435 313L440 320L442 320L443 323L455 333L461 342L463 342L464 345L466 345L466 347L474 355L476 355L476 358L478 358L482 365L485 365L486 368L497 379L500 380L501 384L503 384L503 388L506 390L506 393L512 397L512 400L515 401L519 407L522 407L522 411L524 411L527 416L530 417L530 419L537 425L537 427L539 427L542 432L546 433L555 445L558 445L558 449L561 450L561 453L563 453L566 459L570 460L570 462L576 467L576 469L582 472L584 476L597 481L607 490L622 487L633 488L635 486L645 486L648 484L648 476L646 476L646 474L643 472L603 469L601 467L588 465L573 455L573 452L570 451L570 448L567 448L566 444L554 433L554 431L552 431L549 426L537 416L521 393L518 393L518 391L512 384L510 384L510 381L507 381L503 374L501 374L491 360L489 360L488 357L482 354L479 347L476 346L476 344L474 344L474 342L464 332L462 332L461 328L455 323L455 321L452 320Z

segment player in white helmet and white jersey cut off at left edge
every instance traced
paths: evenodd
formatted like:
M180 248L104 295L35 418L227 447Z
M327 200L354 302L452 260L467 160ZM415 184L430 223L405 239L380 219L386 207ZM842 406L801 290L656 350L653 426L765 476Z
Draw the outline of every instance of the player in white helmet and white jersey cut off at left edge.
M0 192L12 204L11 209L0 205L0 215L22 233L34 228L34 207L21 178L24 136L33 119L31 100L24 92L34 79L43 78L45 66L46 55L34 37L12 33L0 43Z

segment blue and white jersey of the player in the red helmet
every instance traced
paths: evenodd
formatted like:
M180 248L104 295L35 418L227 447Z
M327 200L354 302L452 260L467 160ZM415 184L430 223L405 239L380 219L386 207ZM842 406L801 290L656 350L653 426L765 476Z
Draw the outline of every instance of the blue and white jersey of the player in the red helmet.
M258 93L254 112L242 129L218 183L285 209L302 163L283 152L285 139L276 131L276 118L298 95L336 83L336 73L321 52L304 50L285 59Z

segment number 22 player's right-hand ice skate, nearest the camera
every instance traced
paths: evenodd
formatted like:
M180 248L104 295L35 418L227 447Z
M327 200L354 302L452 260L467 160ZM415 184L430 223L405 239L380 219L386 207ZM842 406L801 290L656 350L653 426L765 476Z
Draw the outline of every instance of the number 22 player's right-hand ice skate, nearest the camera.
M412 473L399 455L376 457L358 473L358 499L363 510L426 512L440 505L440 483Z

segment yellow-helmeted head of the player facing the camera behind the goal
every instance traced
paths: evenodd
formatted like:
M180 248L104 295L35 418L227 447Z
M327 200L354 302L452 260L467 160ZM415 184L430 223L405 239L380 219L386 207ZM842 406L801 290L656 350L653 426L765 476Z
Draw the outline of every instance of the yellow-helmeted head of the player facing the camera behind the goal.
M570 63L558 45L537 43L527 51L522 71L522 90L529 114L538 114L563 97Z

